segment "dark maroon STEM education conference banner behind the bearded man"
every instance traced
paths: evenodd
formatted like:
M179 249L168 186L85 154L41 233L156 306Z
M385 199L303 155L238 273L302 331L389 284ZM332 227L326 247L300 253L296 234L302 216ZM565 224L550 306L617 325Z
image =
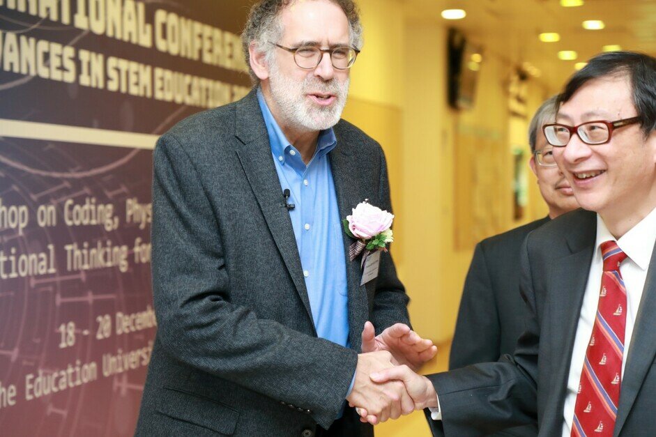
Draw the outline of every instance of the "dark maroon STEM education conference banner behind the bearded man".
M133 434L153 147L250 90L250 3L0 0L0 435Z

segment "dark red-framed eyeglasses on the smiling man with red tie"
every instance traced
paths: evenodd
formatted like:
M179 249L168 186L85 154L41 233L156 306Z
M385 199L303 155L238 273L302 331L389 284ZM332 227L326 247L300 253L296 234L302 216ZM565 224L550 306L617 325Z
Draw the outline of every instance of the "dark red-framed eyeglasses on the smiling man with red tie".
M640 117L624 118L618 121L588 121L578 126L561 125L558 123L542 126L544 137L549 144L555 147L567 146L572 135L577 134L581 141L594 146L595 144L606 144L611 141L613 130L623 126L639 123Z

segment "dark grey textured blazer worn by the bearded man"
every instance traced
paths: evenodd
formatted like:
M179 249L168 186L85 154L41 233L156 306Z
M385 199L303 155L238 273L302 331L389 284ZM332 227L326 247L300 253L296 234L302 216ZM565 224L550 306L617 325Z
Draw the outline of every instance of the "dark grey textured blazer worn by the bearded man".
M390 210L379 144L346 121L335 135L340 215L365 199ZM352 348L319 339L254 91L178 123L154 159L158 333L137 435L305 436L330 427L365 321L379 331L409 322L390 255L365 286L360 260L346 258ZM344 256L350 244L344 235ZM355 422L352 435L372 434Z

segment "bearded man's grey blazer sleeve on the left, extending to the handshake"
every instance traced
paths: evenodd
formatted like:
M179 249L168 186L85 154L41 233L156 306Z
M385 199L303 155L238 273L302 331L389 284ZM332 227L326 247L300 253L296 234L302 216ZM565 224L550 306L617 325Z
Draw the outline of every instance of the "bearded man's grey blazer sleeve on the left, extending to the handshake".
M310 410L328 428L344 404L357 353L232 305L218 222L192 161L172 135L160 138L154 161L153 296L165 350Z

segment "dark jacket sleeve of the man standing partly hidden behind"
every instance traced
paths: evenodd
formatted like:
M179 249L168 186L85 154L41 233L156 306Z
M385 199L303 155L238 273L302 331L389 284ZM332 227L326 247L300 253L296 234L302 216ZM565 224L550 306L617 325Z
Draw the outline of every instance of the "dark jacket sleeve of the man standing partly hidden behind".
M485 250L479 243L462 291L449 369L498 360L500 343L498 308Z

